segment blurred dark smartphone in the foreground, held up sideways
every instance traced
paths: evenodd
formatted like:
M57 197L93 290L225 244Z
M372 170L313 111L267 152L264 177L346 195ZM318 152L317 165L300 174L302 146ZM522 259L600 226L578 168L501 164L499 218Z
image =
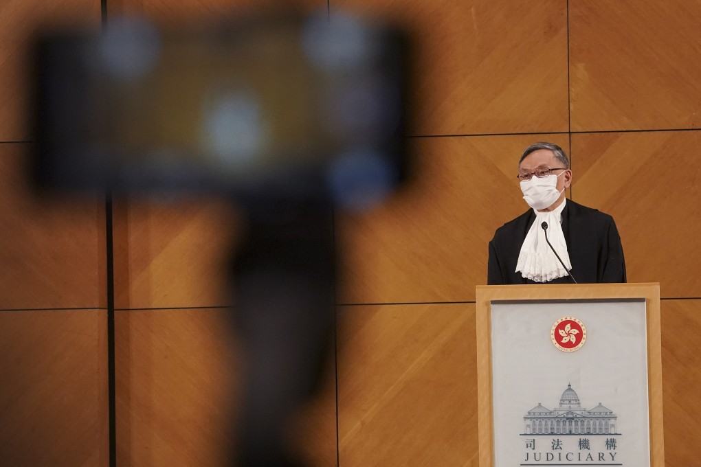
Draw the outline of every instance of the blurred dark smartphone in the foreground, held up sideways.
M407 175L397 29L326 11L179 32L113 18L35 50L41 186L334 196Z

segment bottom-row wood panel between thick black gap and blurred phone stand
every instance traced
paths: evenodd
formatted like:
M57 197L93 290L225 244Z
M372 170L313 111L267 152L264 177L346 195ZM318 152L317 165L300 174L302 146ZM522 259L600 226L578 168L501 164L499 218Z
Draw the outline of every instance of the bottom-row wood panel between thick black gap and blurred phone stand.
M119 466L224 466L238 359L222 309L115 316Z

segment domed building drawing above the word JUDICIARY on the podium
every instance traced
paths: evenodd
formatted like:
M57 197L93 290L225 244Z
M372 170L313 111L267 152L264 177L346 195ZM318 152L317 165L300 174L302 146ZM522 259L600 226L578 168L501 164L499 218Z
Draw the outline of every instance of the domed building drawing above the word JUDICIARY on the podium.
M618 435L616 421L618 417L604 405L587 410L582 407L579 396L567 384L562 393L559 407L549 410L543 405L533 407L524 417L524 434L526 435Z

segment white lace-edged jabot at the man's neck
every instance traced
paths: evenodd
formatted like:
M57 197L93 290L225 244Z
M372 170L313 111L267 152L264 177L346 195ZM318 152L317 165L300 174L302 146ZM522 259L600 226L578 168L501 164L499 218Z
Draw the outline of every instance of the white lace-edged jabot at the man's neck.
M567 270L572 269L569 253L567 253L567 244L562 233L562 210L566 202L566 199L563 200L562 204L552 211L539 212L533 209L536 213L536 221L533 222L531 230L528 231L526 239L524 239L516 264L516 272L520 271L526 279L548 282L567 275L566 270L557 260L557 256L545 242L545 232L540 227L543 222L547 222L547 239L550 240L550 244L557 251L562 262L565 263Z

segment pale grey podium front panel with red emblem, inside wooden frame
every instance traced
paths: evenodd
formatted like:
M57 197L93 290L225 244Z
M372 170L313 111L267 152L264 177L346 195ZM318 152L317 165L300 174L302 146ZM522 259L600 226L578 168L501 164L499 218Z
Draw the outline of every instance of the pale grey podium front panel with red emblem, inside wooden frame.
M491 351L494 466L650 465L644 300L494 301Z

